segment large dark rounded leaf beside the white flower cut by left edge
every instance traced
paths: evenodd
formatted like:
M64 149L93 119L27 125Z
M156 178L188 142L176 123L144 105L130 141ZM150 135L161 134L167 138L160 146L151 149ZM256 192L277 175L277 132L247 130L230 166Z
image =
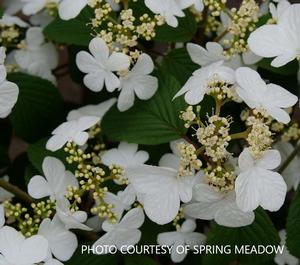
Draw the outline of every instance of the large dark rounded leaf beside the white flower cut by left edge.
M49 135L64 118L63 101L56 87L47 80L21 73L8 75L8 80L20 90L10 115L16 134L28 142Z

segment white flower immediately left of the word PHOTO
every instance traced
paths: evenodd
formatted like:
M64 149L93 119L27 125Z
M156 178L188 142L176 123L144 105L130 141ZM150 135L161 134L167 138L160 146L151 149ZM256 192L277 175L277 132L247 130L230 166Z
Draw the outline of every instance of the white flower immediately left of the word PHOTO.
M49 218L42 221L38 235L48 240L51 253L61 261L69 260L78 246L76 235L65 229L56 216L52 221Z

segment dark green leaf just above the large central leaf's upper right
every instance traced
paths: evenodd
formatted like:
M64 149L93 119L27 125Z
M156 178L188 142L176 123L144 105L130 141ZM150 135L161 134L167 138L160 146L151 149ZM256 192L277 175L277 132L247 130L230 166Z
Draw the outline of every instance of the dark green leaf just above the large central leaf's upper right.
M184 85L198 68L200 66L192 62L186 48L172 50L162 61L162 70L175 76L181 85Z

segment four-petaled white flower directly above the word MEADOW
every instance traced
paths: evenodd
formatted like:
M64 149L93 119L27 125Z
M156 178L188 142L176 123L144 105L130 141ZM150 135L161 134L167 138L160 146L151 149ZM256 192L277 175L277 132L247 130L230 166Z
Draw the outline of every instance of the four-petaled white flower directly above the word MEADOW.
M235 181L236 202L245 212L258 206L277 211L284 203L287 186L280 174L272 171L280 165L280 153L267 150L254 159L248 148L239 156L240 173Z

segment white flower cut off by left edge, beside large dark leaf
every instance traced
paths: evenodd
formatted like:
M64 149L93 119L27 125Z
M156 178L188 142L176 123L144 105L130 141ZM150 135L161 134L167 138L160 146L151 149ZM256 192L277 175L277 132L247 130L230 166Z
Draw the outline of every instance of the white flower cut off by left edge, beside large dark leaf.
M0 47L0 118L5 118L10 114L19 95L18 86L6 80L5 57L5 48Z

